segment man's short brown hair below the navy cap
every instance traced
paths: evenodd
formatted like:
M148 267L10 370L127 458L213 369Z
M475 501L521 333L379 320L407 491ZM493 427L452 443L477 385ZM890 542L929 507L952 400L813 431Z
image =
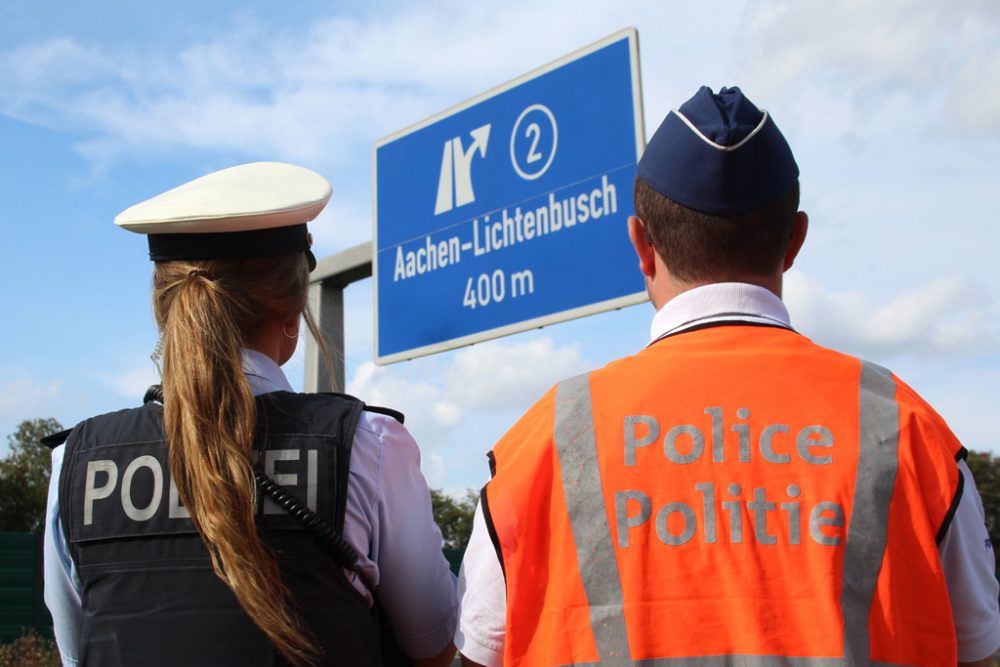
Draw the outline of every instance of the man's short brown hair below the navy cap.
M796 181L778 199L734 216L715 216L667 199L638 176L635 212L670 273L685 282L768 276L780 265L799 209Z

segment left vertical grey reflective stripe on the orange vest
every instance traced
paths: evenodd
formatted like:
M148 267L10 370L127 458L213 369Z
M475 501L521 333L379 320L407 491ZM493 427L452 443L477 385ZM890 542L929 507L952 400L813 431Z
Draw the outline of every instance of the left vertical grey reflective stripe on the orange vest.
M597 463L588 375L578 375L556 388L554 436L597 653L602 659L612 659L606 664L618 664L615 658L629 664L624 596Z

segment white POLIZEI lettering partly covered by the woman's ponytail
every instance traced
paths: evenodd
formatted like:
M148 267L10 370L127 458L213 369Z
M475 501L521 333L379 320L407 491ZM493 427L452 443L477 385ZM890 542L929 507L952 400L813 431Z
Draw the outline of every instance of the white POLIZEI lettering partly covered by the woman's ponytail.
M264 452L264 472L278 484L299 490L309 508L315 511L318 457L316 449L267 450ZM150 483L135 484L136 478L141 476L146 476ZM150 489L150 492L145 497L136 497L133 486ZM107 505L101 503L99 509L102 511L117 512L120 508L132 521L149 521L163 508L165 487L168 490L167 518L189 519L191 515L181 504L177 486L170 478L170 466L160 457L144 454L131 459L124 467L111 459L89 461L81 499L83 525L94 523L95 506L99 501L108 502ZM285 514L285 510L270 498L263 498L263 502L264 514Z

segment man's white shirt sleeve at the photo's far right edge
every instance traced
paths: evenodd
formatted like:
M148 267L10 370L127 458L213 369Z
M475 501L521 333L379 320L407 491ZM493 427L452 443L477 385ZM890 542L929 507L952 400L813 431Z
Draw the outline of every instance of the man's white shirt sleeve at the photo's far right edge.
M955 619L958 659L974 662L1000 648L1000 584L995 576L996 558L986 532L983 501L965 461L960 461L958 468L965 487L938 549Z

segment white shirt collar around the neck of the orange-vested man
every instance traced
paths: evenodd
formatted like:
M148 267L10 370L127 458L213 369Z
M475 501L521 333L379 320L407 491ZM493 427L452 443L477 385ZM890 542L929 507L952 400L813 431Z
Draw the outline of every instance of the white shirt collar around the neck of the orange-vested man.
M791 327L785 304L770 290L748 283L713 283L682 292L663 304L653 316L650 340L723 320Z

